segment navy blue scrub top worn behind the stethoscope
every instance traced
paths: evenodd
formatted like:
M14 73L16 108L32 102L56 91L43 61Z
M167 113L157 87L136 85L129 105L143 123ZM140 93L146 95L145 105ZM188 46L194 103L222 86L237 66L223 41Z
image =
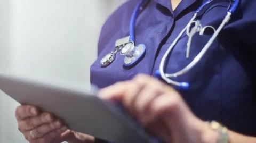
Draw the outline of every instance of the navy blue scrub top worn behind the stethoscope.
M132 11L138 0L119 7L102 28L98 59L91 66L91 83L100 88L118 81L130 80L138 73L154 76L159 63L174 38L186 26L200 0L181 1L177 9L170 0L152 0L138 17L135 43L146 45L146 55L132 68L123 66L124 56L117 53L115 61L101 68L100 60L114 51L115 41L129 35ZM202 26L218 28L227 13L229 1L212 5L202 16ZM188 91L179 90L196 116L202 120L217 120L229 129L256 135L256 1L241 0L231 21L221 31L209 51L191 71L174 80L188 81ZM175 46L166 65L172 73L184 68L211 37L195 35L190 58L186 59L186 33ZM175 88L175 87L174 87Z

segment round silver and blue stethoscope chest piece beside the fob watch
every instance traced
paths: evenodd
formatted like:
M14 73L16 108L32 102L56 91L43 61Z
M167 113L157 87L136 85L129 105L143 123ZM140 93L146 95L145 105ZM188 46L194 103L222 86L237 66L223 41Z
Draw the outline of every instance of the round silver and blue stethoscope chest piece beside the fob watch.
M121 49L120 53L125 55L124 66L132 66L140 61L146 53L146 46L144 44L135 46L133 41L130 41Z

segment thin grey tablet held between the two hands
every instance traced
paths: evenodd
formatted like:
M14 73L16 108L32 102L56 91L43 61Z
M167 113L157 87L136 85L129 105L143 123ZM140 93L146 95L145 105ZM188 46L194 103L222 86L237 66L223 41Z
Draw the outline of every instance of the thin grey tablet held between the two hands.
M0 89L20 104L40 107L71 130L117 143L158 142L114 103L93 92L0 74Z

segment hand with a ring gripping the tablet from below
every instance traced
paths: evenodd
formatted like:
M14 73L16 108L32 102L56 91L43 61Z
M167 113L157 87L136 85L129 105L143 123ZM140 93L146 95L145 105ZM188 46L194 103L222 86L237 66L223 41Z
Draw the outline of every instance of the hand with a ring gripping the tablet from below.
M30 143L94 142L93 137L68 130L60 119L34 106L17 107L15 116L18 129Z

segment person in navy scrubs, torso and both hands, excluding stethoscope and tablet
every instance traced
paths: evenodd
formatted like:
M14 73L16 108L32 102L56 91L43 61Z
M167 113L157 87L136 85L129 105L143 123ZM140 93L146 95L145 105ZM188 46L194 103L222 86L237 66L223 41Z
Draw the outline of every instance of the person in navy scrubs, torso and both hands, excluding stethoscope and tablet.
M166 142L255 142L256 138L238 133L256 135L256 1L241 0L231 21L203 59L189 73L174 79L191 85L186 91L177 89L180 93L153 76L166 49L203 3L202 0L181 1L174 11L170 8L170 0L151 0L136 25L135 42L147 47L142 60L126 68L123 66L124 57L117 54L112 64L100 67L100 59L114 50L115 41L128 35L130 16L137 3L137 0L125 3L103 26L99 59L91 66L91 82L101 88L108 86L99 90L99 97L123 103L153 136ZM202 16L202 26L216 28L228 5L227 2L212 5ZM179 71L189 63L209 40L211 32L193 37L188 60L188 38L183 35L172 51L165 71ZM113 85L115 82L118 83ZM92 136L68 130L58 117L38 107L21 105L17 107L15 116L18 129L30 143L101 142ZM209 125L204 120L217 120L229 130L216 122Z

